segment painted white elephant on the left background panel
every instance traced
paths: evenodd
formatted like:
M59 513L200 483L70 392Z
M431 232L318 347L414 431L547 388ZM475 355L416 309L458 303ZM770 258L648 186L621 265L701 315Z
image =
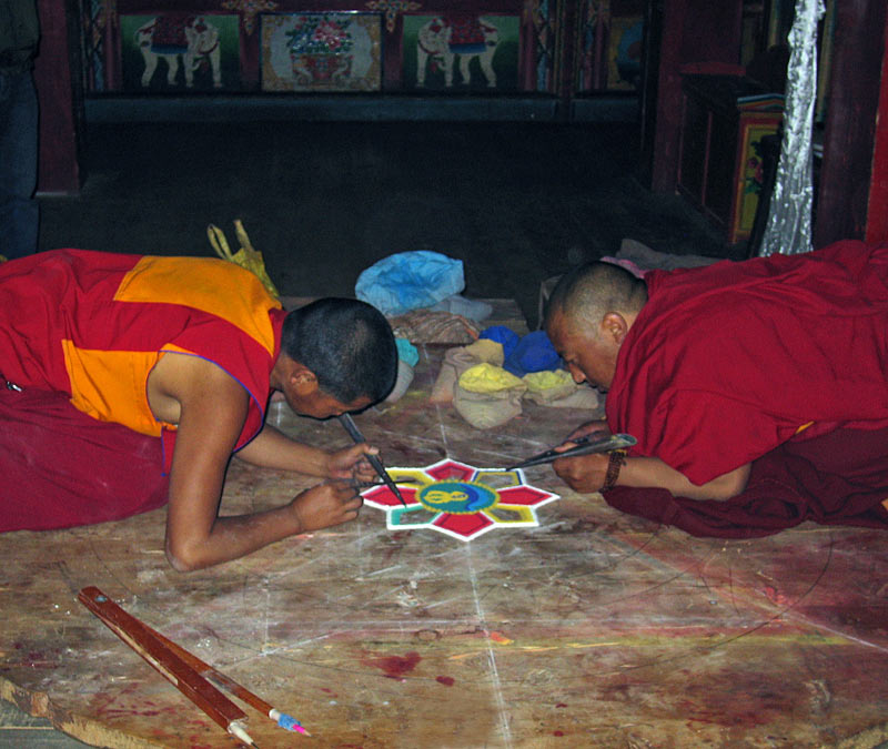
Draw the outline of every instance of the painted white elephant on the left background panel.
M194 85L194 71L209 64L213 88L222 88L219 29L203 16L158 16L135 32L135 43L142 52L145 69L142 85L148 87L160 59L167 62L167 83L175 85L179 58L185 75L185 87Z

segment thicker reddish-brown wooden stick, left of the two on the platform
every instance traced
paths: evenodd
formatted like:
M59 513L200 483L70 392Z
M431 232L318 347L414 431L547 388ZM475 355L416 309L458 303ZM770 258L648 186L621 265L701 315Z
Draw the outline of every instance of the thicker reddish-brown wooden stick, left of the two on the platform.
M246 713L171 650L147 625L127 614L94 586L83 588L78 599L219 726L248 746L256 746L244 730Z

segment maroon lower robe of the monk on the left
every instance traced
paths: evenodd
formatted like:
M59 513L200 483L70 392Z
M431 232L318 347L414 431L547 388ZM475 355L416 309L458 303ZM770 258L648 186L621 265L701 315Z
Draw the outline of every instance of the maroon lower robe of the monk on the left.
M118 520L162 507L161 441L100 422L68 397L0 388L0 533Z

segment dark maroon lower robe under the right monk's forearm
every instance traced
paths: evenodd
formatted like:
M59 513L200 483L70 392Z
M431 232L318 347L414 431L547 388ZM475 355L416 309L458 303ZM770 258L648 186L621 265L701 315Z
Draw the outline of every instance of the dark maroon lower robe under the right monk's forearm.
M746 490L726 502L617 486L605 500L693 536L755 538L806 520L888 529L888 428L837 429L787 442L753 463Z

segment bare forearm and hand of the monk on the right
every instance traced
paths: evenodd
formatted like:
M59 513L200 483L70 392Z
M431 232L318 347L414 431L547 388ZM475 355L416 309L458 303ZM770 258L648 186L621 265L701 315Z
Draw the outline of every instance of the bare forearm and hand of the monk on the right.
M607 473L607 455L585 455L577 458L563 458L553 464L568 486L576 492L598 492ZM620 468L617 486L666 489L675 497L689 499L725 500L740 494L749 478L749 464L697 486L688 478L658 458L626 458Z

